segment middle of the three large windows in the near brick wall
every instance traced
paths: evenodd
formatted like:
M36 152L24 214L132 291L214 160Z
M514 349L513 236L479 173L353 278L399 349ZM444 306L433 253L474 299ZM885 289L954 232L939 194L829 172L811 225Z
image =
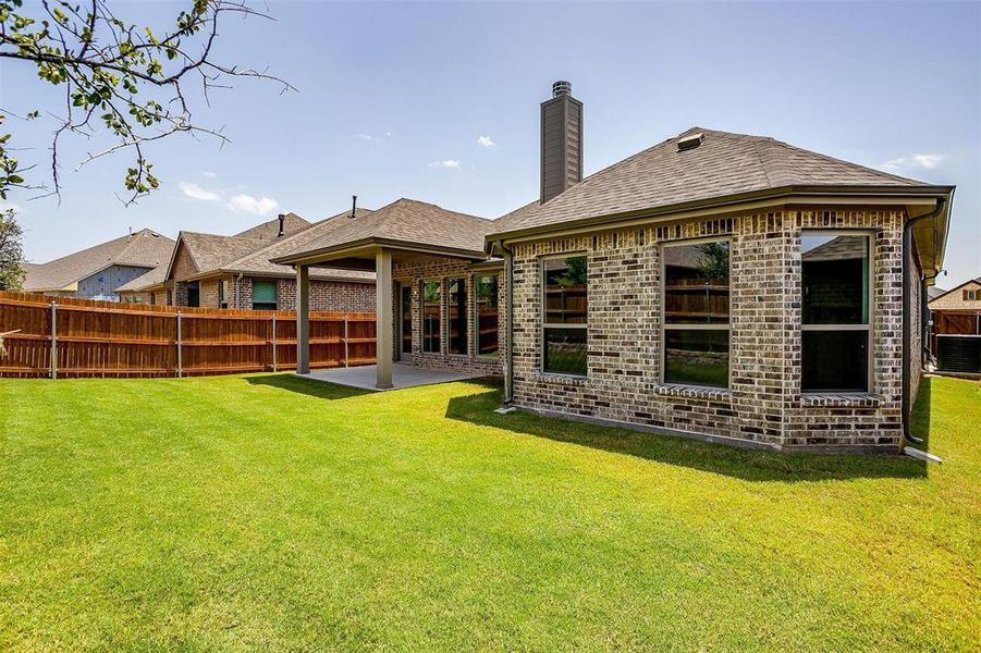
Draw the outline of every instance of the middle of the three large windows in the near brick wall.
M728 387L728 241L665 245L665 383Z

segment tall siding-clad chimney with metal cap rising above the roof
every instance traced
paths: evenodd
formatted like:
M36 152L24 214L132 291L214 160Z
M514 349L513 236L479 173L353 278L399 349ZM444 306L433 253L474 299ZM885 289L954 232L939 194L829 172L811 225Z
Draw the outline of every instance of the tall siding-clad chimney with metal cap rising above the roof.
M583 181L583 102L573 85L552 84L552 97L541 103L541 197L544 204Z

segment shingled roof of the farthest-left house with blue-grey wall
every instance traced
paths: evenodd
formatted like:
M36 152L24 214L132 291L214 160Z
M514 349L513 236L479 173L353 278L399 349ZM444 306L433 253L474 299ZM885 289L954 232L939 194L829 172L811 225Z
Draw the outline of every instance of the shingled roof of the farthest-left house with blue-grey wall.
M27 269L25 291L60 291L111 266L156 268L174 242L148 229Z

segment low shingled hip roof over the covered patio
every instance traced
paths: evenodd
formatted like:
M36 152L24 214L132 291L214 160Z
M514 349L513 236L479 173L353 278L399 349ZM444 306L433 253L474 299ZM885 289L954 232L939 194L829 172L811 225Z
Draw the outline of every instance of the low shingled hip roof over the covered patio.
M372 243L483 259L483 238L493 224L491 220L402 198L272 260L294 262Z

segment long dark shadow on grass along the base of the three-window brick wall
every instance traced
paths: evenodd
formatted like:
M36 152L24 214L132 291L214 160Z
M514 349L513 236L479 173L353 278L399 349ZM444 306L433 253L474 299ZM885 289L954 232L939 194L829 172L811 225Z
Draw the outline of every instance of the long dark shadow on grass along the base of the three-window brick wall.
M666 465L677 465L721 473L745 481L801 482L822 480L927 477L925 464L907 456L861 454L793 454L743 449L685 438L660 435L615 427L600 427L564 419L541 417L526 410L498 415L499 383L481 382L488 392L454 397L446 417L589 446L604 452L636 456ZM922 410L929 414L929 384L921 390ZM918 402L918 406L921 405ZM922 416L920 415L920 419ZM929 418L927 420L929 423ZM925 427L922 427L925 432Z

